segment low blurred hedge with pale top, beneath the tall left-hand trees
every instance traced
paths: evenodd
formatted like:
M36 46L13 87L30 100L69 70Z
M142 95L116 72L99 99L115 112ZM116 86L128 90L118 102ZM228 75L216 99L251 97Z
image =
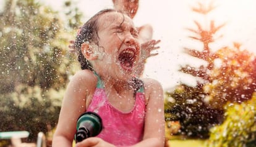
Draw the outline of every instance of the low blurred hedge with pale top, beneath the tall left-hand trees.
M56 125L64 89L43 92L39 86L23 84L15 88L15 92L1 95L1 131L27 130L35 141L38 132L46 133Z

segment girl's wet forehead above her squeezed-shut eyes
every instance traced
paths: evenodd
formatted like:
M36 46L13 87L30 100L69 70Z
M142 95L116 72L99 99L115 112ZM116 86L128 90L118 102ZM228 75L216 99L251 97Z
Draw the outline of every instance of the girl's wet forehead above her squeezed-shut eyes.
M106 14L101 15L98 19L99 30L104 30L111 26L121 24L135 27L134 23L132 22L132 19L125 14L121 14L120 12L108 12Z

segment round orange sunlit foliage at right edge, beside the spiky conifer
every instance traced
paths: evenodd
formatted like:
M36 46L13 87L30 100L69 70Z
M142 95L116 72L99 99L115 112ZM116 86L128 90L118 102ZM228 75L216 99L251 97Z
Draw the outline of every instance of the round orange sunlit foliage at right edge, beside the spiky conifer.
M209 73L210 81L204 85L205 101L214 108L222 109L228 101L239 102L249 100L256 89L255 56L247 50L224 47L216 52L220 66Z

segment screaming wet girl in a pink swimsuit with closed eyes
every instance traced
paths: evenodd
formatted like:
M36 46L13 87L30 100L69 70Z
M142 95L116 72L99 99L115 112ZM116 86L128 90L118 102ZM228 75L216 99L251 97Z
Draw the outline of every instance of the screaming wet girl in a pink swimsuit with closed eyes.
M77 147L164 146L163 89L153 79L137 79L138 31L130 17L101 10L82 26L75 48L81 64L62 102L53 147L72 146L78 117L100 115L103 130Z

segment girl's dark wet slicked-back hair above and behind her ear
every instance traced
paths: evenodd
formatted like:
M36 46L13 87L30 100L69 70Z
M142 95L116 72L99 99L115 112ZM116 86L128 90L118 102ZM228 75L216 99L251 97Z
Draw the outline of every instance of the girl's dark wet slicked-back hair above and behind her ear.
M98 45L98 18L102 14L106 14L108 12L116 12L114 9L104 9L95 14L92 18L90 18L81 28L79 33L77 34L77 37L75 39L75 50L77 52L77 59L80 62L81 69L82 70L92 70L93 67L90 64L90 62L85 58L82 54L81 51L81 46L84 42L89 42L89 43L95 43Z

